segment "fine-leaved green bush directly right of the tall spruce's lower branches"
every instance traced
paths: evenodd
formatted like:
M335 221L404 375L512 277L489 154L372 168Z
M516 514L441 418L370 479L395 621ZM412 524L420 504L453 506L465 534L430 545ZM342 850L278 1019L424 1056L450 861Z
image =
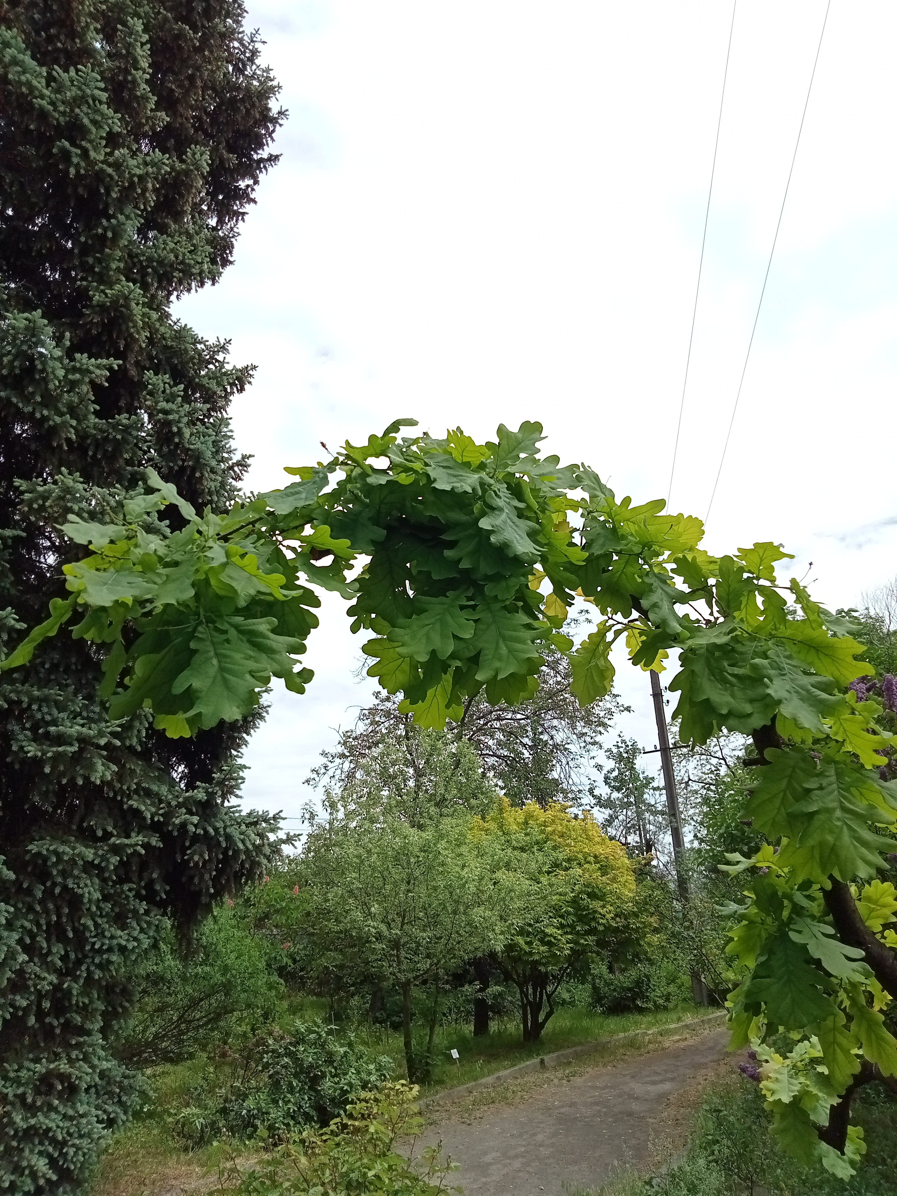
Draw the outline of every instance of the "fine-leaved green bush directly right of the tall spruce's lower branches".
M238 1044L270 1023L283 986L266 950L227 907L200 927L193 950L169 928L136 980L139 1001L117 1048L136 1067L179 1063Z

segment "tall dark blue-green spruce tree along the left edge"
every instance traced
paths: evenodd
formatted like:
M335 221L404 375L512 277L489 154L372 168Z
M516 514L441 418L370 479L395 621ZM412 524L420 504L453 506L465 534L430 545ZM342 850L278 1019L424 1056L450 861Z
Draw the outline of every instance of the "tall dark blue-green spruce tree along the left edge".
M0 652L62 593L66 512L152 465L221 508L250 368L170 313L215 282L283 114L240 0L0 0ZM4 609L5 608L5 609ZM110 724L94 646L0 685L0 1189L72 1192L127 1116L128 971L252 877L249 730Z

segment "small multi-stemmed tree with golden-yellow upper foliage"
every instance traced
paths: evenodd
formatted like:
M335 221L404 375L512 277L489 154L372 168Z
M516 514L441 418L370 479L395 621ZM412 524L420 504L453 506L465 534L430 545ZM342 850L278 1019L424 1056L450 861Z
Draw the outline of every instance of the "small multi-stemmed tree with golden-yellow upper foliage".
M535 1042L563 981L624 929L635 896L633 865L588 812L574 817L560 804L515 810L505 800L477 832L494 841L524 901L498 959L520 994L524 1042Z

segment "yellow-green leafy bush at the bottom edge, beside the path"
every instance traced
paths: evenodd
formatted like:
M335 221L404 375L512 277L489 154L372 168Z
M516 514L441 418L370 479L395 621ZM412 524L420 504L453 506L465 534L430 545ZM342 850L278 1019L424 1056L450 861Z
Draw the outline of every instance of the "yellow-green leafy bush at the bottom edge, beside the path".
M446 1185L454 1170L440 1147L414 1160L423 1128L414 1100L417 1088L399 1080L367 1092L325 1129L306 1130L269 1155L261 1166L240 1171L233 1158L219 1176L218 1196L438 1196L460 1191ZM408 1143L399 1153L396 1142Z

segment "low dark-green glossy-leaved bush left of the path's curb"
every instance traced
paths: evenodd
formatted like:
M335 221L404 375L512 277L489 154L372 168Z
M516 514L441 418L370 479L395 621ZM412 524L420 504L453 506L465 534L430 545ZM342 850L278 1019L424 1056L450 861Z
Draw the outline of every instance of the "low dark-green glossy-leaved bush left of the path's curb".
M210 1069L175 1128L194 1147L260 1133L285 1141L344 1116L353 1098L376 1088L391 1070L392 1060L370 1058L353 1036L338 1041L322 1024L297 1023L292 1035L249 1044L231 1068L230 1085L222 1086L220 1073Z

